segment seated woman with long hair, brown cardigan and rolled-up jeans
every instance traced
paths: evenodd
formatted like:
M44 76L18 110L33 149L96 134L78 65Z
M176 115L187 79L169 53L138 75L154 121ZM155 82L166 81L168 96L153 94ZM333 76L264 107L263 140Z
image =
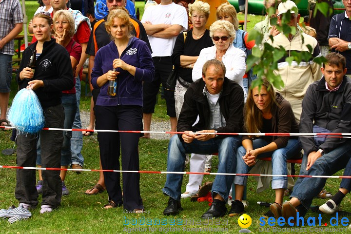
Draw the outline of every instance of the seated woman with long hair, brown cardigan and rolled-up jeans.
M290 103L279 93L275 93L272 84L263 78L262 86L249 91L244 108L244 133L298 133ZM289 136L244 136L242 146L236 153L236 173L248 174L256 159L272 157L273 175L287 175L287 159L301 151L297 137ZM235 201L229 216L244 212L241 202L248 176L235 176ZM270 210L275 217L281 216L284 189L288 186L287 177L273 176L272 188L275 201Z

